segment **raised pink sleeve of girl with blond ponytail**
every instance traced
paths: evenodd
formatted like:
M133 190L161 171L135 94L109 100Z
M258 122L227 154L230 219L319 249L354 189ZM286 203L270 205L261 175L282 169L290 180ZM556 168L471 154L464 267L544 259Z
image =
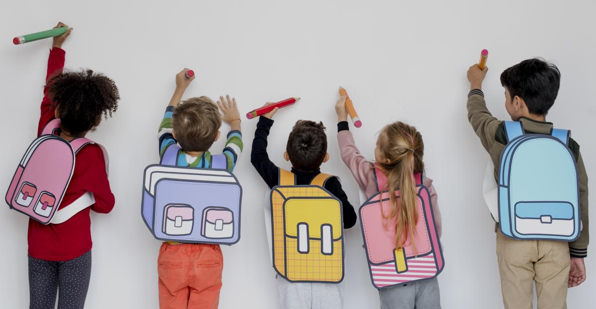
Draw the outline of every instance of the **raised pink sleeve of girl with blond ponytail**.
M371 169L372 163L360 154L352 132L349 130L337 133L337 143L339 144L343 163L350 169L360 188L366 191L371 179L374 181L373 170Z

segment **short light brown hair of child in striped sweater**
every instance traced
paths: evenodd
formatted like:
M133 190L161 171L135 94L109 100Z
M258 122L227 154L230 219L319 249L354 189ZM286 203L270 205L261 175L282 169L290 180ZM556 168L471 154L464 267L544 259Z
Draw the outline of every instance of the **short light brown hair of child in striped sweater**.
M222 119L215 102L207 96L178 103L172 114L176 140L185 151L207 151L215 142Z

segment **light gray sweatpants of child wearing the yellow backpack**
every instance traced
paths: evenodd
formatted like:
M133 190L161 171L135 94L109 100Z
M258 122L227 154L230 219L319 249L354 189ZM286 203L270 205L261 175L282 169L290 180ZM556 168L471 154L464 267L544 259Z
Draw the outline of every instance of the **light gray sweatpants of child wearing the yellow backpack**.
M277 275L277 298L281 309L342 309L340 283L292 283Z

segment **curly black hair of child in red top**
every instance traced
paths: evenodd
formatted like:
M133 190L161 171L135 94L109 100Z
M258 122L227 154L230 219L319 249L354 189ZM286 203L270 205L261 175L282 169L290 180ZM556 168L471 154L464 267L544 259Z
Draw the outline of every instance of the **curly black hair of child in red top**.
M95 130L101 116L118 109L120 93L113 80L92 70L64 71L46 82L52 108L58 111L62 129L70 136Z

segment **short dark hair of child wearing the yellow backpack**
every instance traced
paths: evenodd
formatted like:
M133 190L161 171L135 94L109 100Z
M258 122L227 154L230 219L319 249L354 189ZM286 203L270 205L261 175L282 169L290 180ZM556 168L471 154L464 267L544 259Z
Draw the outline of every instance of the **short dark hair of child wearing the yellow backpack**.
M321 167L327 154L327 135L322 122L298 120L288 137L285 151L297 170L312 171Z

